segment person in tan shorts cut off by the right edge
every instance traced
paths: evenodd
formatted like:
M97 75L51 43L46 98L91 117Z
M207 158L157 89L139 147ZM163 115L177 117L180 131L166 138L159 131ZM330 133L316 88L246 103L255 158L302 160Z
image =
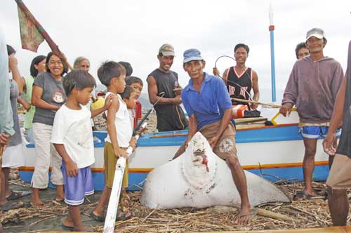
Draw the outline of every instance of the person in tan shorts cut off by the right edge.
M323 141L324 151L328 154L336 154L331 166L331 171L326 180L328 191L328 204L331 213L331 220L334 226L345 226L349 213L349 199L347 189L351 188L351 41L347 58L347 69L343 84L341 84L336 105L331 118L328 135ZM341 133L338 149L334 147L336 141L333 131L343 122L343 132Z

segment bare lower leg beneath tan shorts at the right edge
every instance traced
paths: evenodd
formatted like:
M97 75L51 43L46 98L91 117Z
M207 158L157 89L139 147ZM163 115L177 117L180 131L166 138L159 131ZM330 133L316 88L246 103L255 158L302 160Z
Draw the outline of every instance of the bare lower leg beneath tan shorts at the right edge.
M327 186L328 205L334 226L345 226L349 213L349 199L346 189L331 189Z

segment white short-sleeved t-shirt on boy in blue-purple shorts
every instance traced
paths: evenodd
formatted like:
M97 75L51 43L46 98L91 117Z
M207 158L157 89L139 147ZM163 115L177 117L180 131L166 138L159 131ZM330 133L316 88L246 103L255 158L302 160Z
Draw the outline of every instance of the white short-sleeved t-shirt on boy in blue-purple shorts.
M65 145L69 157L78 168L95 162L91 112L81 105L80 110L62 105L55 114L51 142Z

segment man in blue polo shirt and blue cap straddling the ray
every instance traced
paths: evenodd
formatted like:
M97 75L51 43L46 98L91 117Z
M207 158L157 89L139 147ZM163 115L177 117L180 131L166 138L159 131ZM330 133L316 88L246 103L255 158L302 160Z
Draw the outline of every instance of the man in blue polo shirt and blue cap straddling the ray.
M235 128L232 119L232 102L221 79L203 72L205 61L200 51L191 48L184 52L183 68L190 76L189 84L182 91L182 100L189 116L187 140L175 157L185 152L188 142L201 132L210 143L213 152L224 159L232 172L234 184L241 197L241 211L237 224L247 224L257 213L251 208L247 194L246 176L237 158Z

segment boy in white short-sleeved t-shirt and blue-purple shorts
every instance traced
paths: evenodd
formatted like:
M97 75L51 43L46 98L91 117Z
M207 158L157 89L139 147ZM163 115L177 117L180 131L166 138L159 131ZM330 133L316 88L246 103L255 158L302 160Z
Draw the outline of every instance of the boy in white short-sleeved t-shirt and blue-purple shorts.
M81 222L79 206L84 197L94 193L91 164L94 163L91 117L105 111L111 104L90 112L86 105L95 87L95 79L86 71L75 69L63 79L67 102L55 114L51 142L62 157L65 203L69 205L62 228L87 231Z

